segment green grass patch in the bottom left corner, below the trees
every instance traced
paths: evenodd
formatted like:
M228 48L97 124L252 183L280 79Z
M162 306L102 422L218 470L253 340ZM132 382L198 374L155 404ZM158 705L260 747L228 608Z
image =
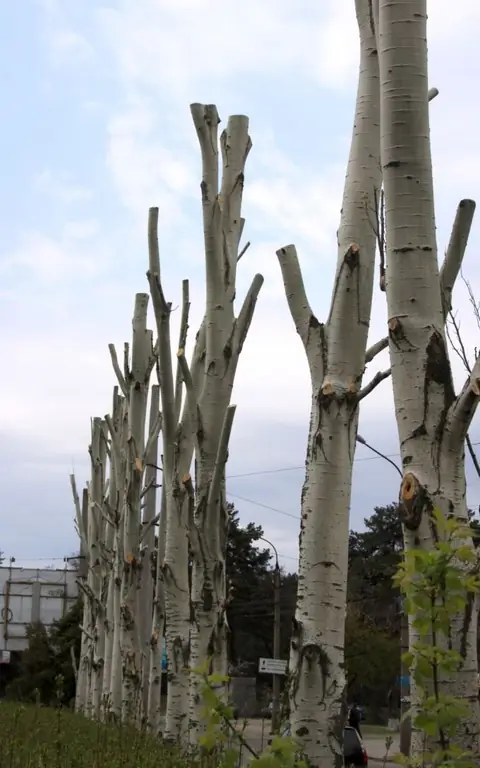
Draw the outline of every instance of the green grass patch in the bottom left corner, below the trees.
M187 768L178 750L136 730L61 709L0 705L1 768Z

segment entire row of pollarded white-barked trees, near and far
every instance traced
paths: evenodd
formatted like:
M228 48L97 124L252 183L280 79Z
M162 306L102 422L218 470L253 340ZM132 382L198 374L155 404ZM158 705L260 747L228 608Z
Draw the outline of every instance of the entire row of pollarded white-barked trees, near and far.
M325 322L310 307L295 247L277 253L312 383L290 709L292 732L319 768L334 768L342 749L349 508L359 405L391 376L404 471L405 543L428 549L433 506L467 519L464 443L480 396L477 363L455 394L446 344L445 322L475 206L460 203L439 269L429 140L429 101L437 91L428 89L426 0L355 0L355 7L358 92ZM172 361L171 303L162 287L153 208L147 277L156 342L147 329L149 295L138 294L131 354L125 345L123 367L110 345L117 386L111 414L92 422L91 479L82 503L72 478L88 562L81 584L77 708L94 717L143 720L159 732L165 635L168 697L162 730L183 743L196 742L201 731L198 677L190 670L207 658L214 669L227 669L225 464L235 414L231 393L263 282L260 275L253 278L236 317L236 270L245 250L240 241L248 120L231 117L221 136L219 185L217 110L194 104L191 112L202 153L206 267L205 314L191 361L185 354L188 281L176 367ZM368 348L377 252L389 320L385 338ZM387 348L390 367L363 384L366 366ZM150 386L154 371L158 383ZM458 626L452 642L463 656L462 672L439 684L467 703L470 714L458 742L478 752L474 604L468 616L458 617ZM421 746L414 734L414 751Z

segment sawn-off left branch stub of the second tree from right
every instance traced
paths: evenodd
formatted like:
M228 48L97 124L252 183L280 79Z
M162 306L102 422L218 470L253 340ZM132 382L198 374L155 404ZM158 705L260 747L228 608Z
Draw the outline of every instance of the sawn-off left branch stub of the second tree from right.
M319 328L320 323L313 314L312 308L307 299L305 284L303 282L302 270L297 256L297 249L294 245L286 245L277 251L280 269L282 270L283 284L287 297L288 308L292 316L295 328L300 336L305 350L307 350L310 330Z

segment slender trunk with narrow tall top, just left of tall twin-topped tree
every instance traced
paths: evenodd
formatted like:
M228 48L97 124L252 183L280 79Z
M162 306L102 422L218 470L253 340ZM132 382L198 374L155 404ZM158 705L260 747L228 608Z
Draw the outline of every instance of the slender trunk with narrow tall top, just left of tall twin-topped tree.
M189 536L188 536L188 506L185 503L185 491L182 477L190 470L192 462L193 443L188 419L179 423L181 408L181 379L177 370L176 386L174 386L170 312L171 304L167 303L161 283L160 255L158 248L158 208L151 208L148 219L149 270L147 273L158 335L158 360L160 372L160 395L162 402L162 440L163 440L163 472L162 491L165 514L165 551L163 561L159 563L162 569L157 586L161 586L165 600L167 647L167 712L165 718L164 736L169 741L185 744L188 742L188 683L190 661L190 585L189 585ZM190 302L188 282L183 283L183 306L180 337L185 341L188 328L188 312ZM160 531L162 533L162 531ZM163 541L159 536L157 557L161 557ZM162 599L162 593L159 593ZM156 618L161 620L161 603L156 606ZM157 628L154 628L156 633ZM161 643L161 637L156 636L156 644ZM158 670L158 645L152 648L154 658L152 663ZM161 654L161 650L160 650ZM161 664L161 659L160 659ZM157 672L158 674L158 672ZM158 723L158 711L154 699L151 699L152 709L155 709L154 722ZM158 701L157 701L158 705ZM156 725L154 726L156 727Z

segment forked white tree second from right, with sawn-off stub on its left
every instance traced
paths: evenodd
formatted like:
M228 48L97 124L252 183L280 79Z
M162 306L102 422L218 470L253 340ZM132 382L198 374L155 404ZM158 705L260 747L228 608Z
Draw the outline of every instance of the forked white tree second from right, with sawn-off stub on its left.
M298 597L290 656L292 735L315 768L343 765L346 714L344 625L352 465L373 292L380 199L376 4L357 0L360 73L338 230L335 283L326 323L306 297L294 246L278 252L293 320L312 382L306 478L301 499Z

